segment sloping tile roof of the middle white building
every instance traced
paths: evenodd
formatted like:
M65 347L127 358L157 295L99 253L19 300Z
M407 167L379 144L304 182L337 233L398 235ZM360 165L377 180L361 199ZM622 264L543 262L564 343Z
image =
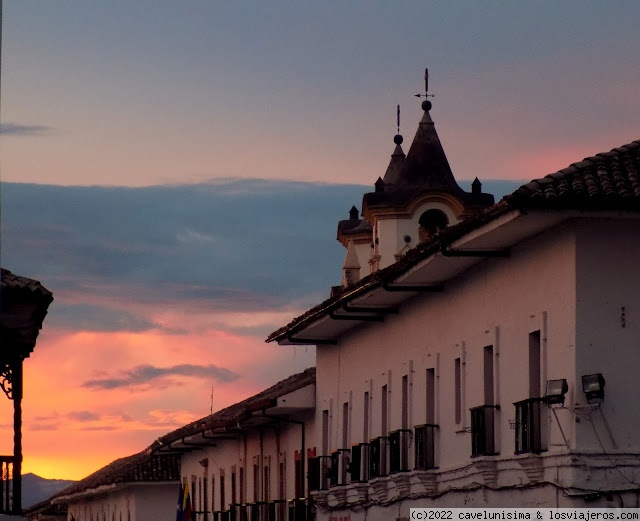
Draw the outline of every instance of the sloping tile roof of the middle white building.
M158 438L148 450L158 450L163 446L184 438L185 436L192 436L204 431L220 429L228 426L235 427L239 421L246 419L251 412L268 409L275 404L279 397L289 394L297 389L302 389L307 385L314 384L315 381L316 368L311 367L309 369L305 369L302 373L289 376L288 378L254 396L247 398L246 400L230 405L225 409L191 422L184 427L180 427L179 429Z

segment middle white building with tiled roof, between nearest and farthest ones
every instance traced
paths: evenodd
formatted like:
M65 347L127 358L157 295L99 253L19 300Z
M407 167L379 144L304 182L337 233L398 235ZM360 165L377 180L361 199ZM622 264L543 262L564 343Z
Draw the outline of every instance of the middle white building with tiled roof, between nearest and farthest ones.
M159 438L150 451L181 455L194 520L302 521L311 519L304 469L318 454L314 417L311 368Z

